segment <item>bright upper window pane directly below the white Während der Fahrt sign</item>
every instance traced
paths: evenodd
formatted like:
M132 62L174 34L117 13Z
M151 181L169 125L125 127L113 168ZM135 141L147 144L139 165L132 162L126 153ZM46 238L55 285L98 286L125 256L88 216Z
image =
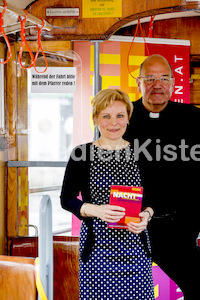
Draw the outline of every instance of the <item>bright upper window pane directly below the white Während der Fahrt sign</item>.
M72 149L73 94L28 94L29 160L65 161Z

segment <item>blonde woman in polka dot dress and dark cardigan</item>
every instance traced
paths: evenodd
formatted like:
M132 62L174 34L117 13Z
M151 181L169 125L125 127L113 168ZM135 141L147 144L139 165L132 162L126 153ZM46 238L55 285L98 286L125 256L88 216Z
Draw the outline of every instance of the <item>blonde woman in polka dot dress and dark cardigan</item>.
M75 148L68 162L61 205L82 219L80 299L154 299L146 227L153 209L143 203L141 222L111 229L124 208L109 205L111 185L141 186L133 148L123 139L132 103L121 90L106 89L93 99L93 121L101 137ZM79 192L83 201L77 199Z

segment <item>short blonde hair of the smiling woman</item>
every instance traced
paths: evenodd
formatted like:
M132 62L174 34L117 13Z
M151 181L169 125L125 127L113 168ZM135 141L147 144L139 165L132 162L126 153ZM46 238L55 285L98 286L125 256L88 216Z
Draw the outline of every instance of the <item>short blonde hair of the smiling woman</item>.
M114 101L121 101L126 105L128 114L128 120L130 120L133 112L133 104L129 96L120 89L105 89L100 92L92 99L92 118L95 124L95 118L98 118L99 113L106 109L109 105L112 105Z

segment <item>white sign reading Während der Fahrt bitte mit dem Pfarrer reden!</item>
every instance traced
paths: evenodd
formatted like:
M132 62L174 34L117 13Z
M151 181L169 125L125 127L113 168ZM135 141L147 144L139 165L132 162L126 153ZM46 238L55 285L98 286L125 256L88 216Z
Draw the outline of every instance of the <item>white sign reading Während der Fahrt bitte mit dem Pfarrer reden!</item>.
M38 72L44 68L38 67ZM48 67L45 74L31 68L31 93L75 93L76 68Z

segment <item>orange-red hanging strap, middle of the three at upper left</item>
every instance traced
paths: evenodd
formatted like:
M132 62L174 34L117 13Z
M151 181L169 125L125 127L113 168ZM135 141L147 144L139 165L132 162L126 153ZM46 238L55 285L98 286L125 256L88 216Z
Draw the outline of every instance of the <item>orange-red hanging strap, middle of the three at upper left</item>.
M29 68L33 67L33 65L34 65L34 56L33 56L33 53L32 53L32 51L31 51L31 49L30 49L30 47L29 47L27 41L26 41L25 24L26 24L26 20L27 20L27 17L28 17L28 13L27 13L26 10L24 10L24 12L25 12L26 16L24 17L23 20L22 20L21 17L19 16L19 20L20 20L20 23L21 23L21 38L22 38L22 43L21 43L21 47L20 47L19 57L18 57L18 58L19 58L20 66L22 67L22 69L25 69L25 70L26 70L26 69L29 69ZM28 52L29 52L30 57L31 57L31 64L30 64L29 67L24 67L24 66L22 65L22 52L23 52L24 46L27 47Z

